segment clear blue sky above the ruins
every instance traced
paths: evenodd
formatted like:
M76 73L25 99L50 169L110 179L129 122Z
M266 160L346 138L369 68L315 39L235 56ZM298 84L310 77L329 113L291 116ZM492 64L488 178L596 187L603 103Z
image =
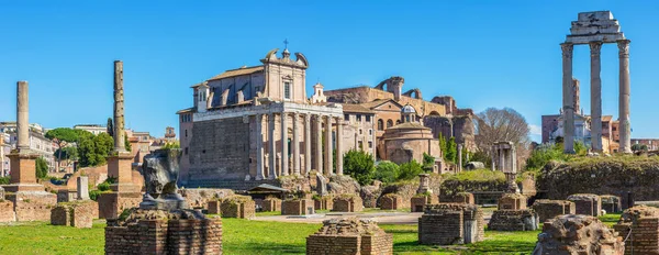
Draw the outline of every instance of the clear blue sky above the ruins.
M427 100L480 112L510 107L529 124L561 103L561 52L577 13L611 10L632 40L633 137L659 137L657 1L2 1L0 121L15 120L15 81L30 81L31 122L104 124L112 62L124 62L126 124L163 135L192 104L189 86L258 65L284 38L309 58L308 87L405 78ZM590 111L589 48L574 77ZM617 47L602 49L603 113L617 118ZM534 127L539 134L539 129ZM539 135L533 135L538 141Z

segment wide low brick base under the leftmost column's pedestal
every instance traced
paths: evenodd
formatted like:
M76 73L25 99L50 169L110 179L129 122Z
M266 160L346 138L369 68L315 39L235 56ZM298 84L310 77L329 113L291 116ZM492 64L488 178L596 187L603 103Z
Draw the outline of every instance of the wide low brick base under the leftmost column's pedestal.
M20 191L5 198L13 202L16 221L49 221L51 209L57 204L57 195L46 191Z

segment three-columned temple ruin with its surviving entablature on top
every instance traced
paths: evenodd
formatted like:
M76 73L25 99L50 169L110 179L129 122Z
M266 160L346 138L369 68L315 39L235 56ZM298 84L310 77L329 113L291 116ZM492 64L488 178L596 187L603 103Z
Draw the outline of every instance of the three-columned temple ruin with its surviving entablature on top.
M591 49L591 118L602 119L602 80L600 78L602 44L615 43L618 46L619 57L619 148L618 152L632 153L632 127L629 123L629 40L621 31L618 21L611 11L581 12L577 21L572 22L570 34L566 42L560 44L562 49L562 112L565 152L574 153L574 114L579 109L573 109L574 95L572 82L572 49L574 45L588 44ZM591 122L592 148L602 152L602 122Z

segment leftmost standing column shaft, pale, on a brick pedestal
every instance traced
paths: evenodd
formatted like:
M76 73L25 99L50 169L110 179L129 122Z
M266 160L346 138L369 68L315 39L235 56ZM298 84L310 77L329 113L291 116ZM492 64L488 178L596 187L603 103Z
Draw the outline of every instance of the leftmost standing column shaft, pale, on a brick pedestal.
M30 107L27 81L16 84L16 148L19 152L30 149ZM2 158L0 158L2 159Z

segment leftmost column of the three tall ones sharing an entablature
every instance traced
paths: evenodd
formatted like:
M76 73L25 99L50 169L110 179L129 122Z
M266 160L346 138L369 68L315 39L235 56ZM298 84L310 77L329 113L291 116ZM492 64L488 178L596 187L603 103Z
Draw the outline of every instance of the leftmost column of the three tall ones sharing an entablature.
M563 96L563 151L565 153L574 153L574 82L572 81L572 49L571 43L560 44L562 49L562 96Z

